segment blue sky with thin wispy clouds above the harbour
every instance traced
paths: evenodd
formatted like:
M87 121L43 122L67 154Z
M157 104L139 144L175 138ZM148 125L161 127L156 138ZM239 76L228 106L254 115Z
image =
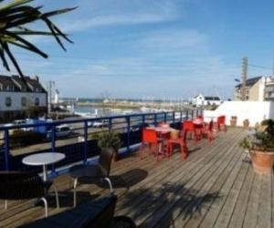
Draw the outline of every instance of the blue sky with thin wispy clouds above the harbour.
M39 0L46 10L79 8L53 20L74 45L67 52L48 38L31 40L49 54L16 56L28 75L54 80L64 97L232 97L241 58L272 67L271 0ZM38 25L40 26L40 25ZM270 75L248 67L248 77ZM5 72L6 73L6 72Z

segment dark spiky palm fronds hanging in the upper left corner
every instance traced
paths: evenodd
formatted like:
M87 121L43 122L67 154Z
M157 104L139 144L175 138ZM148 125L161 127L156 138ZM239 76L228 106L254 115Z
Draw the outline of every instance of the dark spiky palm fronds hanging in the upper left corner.
M41 57L47 58L47 54L29 42L27 36L53 36L58 45L64 50L66 50L66 48L62 43L62 39L73 43L68 39L68 35L64 34L49 18L67 13L75 8L64 8L42 13L41 9L43 6L34 7L29 5L29 3L33 1L34 0L0 0L0 58L7 71L10 71L10 61L25 84L24 74L11 51L11 46L24 48ZM29 28L29 25L38 21L45 23L48 30L33 30Z

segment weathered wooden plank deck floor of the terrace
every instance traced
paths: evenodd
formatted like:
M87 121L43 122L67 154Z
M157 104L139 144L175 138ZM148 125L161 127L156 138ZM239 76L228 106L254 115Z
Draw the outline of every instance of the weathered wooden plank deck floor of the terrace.
M132 217L140 227L274 227L273 174L259 176L238 148L244 130L221 132L209 143L189 143L191 153L181 161L175 153L156 162L138 154L121 159L111 169L118 194L116 215ZM49 215L72 206L68 175L56 180L61 208L49 201ZM81 183L78 202L109 192L107 186ZM9 202L0 209L0 227L16 227L44 215L42 204L34 201Z

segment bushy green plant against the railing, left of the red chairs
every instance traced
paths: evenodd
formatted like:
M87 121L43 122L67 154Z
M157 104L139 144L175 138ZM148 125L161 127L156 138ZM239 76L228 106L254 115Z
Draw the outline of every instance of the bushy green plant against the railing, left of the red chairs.
M121 139L119 134L114 130L103 130L95 134L94 139L97 140L97 145L100 149L110 148L114 151L113 160L118 160L118 150L121 147Z

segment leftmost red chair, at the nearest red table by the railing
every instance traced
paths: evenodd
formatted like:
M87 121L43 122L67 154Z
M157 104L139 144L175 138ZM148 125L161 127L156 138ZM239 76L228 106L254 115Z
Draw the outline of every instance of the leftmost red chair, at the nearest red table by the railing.
M150 153L158 155L160 150L159 145L163 140L158 138L158 134L155 130L143 129L142 130L142 148L140 150L140 158L142 159L142 154L145 147L149 147ZM153 150L152 150L153 149Z

